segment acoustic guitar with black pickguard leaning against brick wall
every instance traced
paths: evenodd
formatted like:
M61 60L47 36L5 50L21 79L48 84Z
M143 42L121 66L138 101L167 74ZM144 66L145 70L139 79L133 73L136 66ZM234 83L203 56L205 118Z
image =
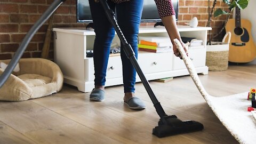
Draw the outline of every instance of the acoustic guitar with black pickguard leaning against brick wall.
M229 19L226 25L226 31L231 32L229 43L230 62L250 62L256 57L256 47L251 34L251 22L241 19L241 12L236 7L236 18Z

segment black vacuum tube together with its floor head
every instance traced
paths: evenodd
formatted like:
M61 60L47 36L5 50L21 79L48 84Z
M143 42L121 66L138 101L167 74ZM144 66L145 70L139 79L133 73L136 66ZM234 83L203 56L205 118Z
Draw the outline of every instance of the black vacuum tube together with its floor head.
M131 45L129 43L127 43L121 29L118 26L118 23L115 18L115 13L109 8L107 0L100 0L100 3L106 12L109 22L111 23L111 25L113 25L113 27L121 41L121 44L123 45L123 49L125 51L126 56L130 59L132 65L135 68L135 70L137 71L137 73L141 79L141 82L143 83L151 101L153 102L154 107L156 108L157 114L161 117L158 122L158 126L156 126L153 129L153 134L159 138L162 138L162 137L166 137L169 135L202 130L204 126L203 126L203 124L201 124L199 122L181 121L175 115L167 116L165 114L163 107L156 99L155 94L149 85L149 82L147 81L142 70L140 69L140 66L138 64L137 59L135 58L135 54L133 52Z

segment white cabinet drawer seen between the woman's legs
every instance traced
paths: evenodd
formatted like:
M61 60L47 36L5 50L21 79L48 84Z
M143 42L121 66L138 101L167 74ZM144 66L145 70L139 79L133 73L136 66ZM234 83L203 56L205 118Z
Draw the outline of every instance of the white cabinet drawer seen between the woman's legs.
M109 57L106 78L122 77L122 61L120 56Z

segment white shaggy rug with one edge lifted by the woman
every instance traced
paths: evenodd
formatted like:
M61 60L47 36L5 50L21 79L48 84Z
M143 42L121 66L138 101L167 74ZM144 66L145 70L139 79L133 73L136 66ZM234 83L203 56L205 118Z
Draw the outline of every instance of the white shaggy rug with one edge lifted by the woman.
M228 97L213 97L208 94L196 73L193 62L187 57L180 42L178 39L174 39L174 42L197 89L214 114L220 119L220 122L226 126L239 143L256 143L256 121L252 113L247 111L247 107L251 107L251 102L247 101L248 92L229 95Z

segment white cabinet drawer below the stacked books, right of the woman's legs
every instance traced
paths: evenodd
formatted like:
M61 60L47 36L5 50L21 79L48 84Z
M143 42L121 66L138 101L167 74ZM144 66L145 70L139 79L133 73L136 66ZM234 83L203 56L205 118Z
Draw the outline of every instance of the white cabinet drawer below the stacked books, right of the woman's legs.
M138 62L144 74L157 73L172 70L172 57L172 52L140 52Z

